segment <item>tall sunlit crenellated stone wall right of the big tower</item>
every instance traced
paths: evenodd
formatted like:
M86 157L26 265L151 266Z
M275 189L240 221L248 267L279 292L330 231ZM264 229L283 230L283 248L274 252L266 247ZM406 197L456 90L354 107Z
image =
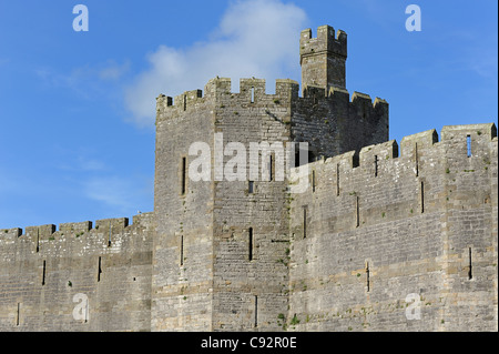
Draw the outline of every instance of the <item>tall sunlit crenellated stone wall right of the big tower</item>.
M308 165L291 209L294 328L497 331L496 127L445 127L441 141L432 130L400 148ZM415 295L420 320L406 316Z

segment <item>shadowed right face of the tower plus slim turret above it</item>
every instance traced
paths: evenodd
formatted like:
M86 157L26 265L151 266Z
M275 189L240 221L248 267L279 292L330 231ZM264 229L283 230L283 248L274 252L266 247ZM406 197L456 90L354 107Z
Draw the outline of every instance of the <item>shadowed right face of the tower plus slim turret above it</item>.
M293 107L293 139L309 144L309 160L334 156L385 142L388 103L379 98L346 90L347 34L320 26L299 38L303 98Z

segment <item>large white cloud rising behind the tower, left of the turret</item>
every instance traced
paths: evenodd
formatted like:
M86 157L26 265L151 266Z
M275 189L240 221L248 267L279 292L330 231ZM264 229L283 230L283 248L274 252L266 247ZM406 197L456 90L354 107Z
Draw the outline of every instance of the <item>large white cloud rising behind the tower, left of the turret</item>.
M278 0L232 3L205 42L185 50L160 45L147 57L150 69L125 89L125 104L139 125L154 122L155 98L203 89L216 75L231 78L238 91L240 78L299 79L298 39L305 12Z

